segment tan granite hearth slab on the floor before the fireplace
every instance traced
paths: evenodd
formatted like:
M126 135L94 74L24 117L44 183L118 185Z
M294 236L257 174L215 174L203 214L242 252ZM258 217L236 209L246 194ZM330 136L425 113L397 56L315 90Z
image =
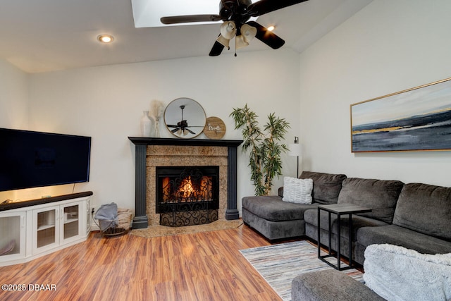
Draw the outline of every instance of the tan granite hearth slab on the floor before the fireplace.
M204 225L196 225L196 226L184 226L184 227L168 227L160 225L149 226L145 229L133 229L131 233L133 235L142 236L144 238L156 238L159 236L182 235L182 234L233 229L238 228L241 225L242 219L233 219L230 221L218 220L212 223L206 223Z

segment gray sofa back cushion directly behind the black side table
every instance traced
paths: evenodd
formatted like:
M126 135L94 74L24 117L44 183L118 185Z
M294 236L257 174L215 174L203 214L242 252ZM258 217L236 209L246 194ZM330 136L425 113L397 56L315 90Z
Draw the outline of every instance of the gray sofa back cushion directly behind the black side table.
M392 223L403 185L399 180L347 178L343 180L338 204L369 207L373 211L359 215Z

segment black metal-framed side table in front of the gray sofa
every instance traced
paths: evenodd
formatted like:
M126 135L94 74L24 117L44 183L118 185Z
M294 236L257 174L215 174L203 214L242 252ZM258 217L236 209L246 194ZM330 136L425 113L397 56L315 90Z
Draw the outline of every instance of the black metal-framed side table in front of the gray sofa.
M329 222L329 228L328 228L328 239L329 239L329 247L328 247L328 254L327 255L321 255L321 210L328 212L328 222ZM342 271L345 269L352 269L352 214L358 214L358 213L364 213L364 212L371 212L372 209L367 207L362 207L359 205L354 204L330 204L330 205L320 205L318 206L318 258L321 259L323 262L326 262L326 264L332 266L334 269L338 269L338 271ZM338 223L338 234L337 234L337 265L328 262L326 258L328 257L334 257L332 252L332 223L330 223L330 214L336 214L337 215L337 223ZM340 247L341 247L341 216L342 215L349 215L350 223L349 223L349 262L350 264L345 267L340 266Z

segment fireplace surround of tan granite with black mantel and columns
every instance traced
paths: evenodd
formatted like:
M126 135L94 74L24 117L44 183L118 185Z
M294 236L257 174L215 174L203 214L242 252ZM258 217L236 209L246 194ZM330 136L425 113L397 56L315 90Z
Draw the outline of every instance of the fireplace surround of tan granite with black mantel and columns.
M219 166L219 219L239 219L237 147L242 140L128 137L135 145L135 218L132 228L159 225L156 166Z

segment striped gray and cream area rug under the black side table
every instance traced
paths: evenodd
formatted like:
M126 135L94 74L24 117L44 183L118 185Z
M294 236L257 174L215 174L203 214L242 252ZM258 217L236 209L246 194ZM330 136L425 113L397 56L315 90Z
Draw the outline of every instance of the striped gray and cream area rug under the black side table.
M291 282L299 274L308 271L333 269L318 259L318 249L307 241L254 247L240 250L240 253L284 301L291 300ZM336 262L337 259L333 263L336 264ZM342 266L346 266L346 264ZM362 272L356 269L348 269L342 272L352 276L357 281L363 281Z

